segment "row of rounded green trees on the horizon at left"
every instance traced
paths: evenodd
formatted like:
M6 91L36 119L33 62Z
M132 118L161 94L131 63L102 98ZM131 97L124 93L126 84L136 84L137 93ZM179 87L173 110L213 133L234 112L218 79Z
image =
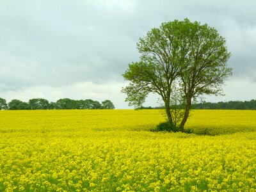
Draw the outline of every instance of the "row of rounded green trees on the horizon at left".
M29 99L28 102L23 102L19 99L13 99L6 102L5 99L0 98L0 110L22 110L22 109L115 109L111 100L104 100L101 103L97 100L85 99L59 99L56 102L49 102L47 99L36 98Z

